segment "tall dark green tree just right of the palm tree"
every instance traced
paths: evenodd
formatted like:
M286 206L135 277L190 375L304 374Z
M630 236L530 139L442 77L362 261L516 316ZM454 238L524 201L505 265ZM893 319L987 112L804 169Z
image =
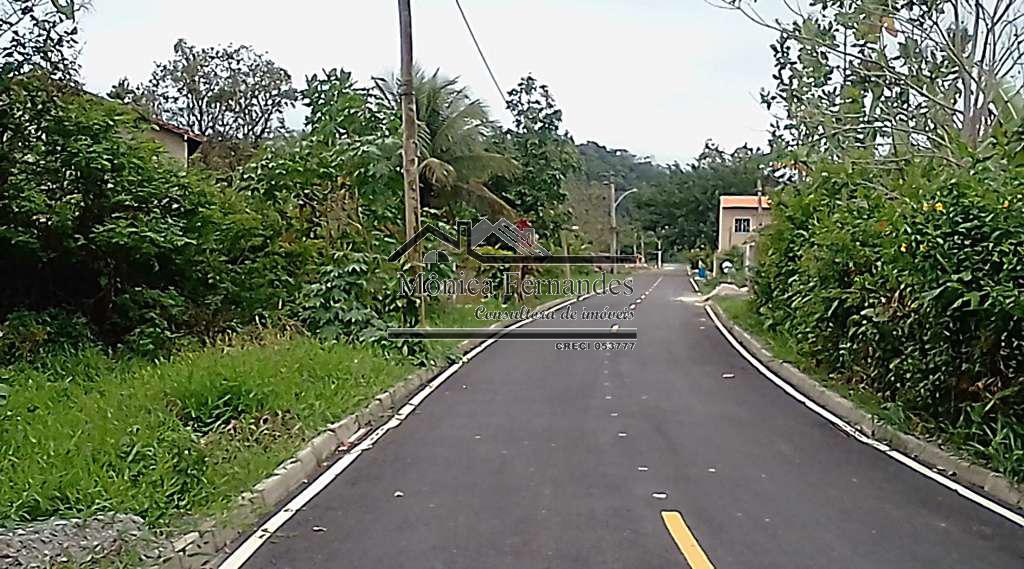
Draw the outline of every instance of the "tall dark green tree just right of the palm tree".
M505 131L505 144L521 170L498 187L540 234L555 238L570 218L565 181L580 170L580 154L562 130L562 112L547 85L526 76L507 100L513 126Z

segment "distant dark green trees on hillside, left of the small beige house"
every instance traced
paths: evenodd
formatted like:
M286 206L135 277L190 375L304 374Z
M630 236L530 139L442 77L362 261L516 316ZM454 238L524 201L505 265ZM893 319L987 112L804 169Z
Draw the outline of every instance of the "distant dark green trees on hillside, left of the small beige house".
M708 141L687 168L678 164L668 179L638 194L636 223L652 231L676 251L712 247L718 234L719 198L753 194L762 179L766 159L743 145L728 152Z

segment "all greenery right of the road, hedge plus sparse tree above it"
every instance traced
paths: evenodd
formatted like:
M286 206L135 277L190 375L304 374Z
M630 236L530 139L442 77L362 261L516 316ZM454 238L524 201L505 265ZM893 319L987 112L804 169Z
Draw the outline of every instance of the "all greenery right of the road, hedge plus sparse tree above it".
M771 195L754 282L766 330L807 365L1021 479L1012 5L826 0L793 23L754 17L779 34L762 99L795 178Z

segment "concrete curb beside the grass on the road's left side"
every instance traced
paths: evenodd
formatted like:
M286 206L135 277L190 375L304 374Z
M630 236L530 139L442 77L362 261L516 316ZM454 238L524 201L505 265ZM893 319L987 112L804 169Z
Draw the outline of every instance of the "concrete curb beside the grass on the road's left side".
M542 304L535 313L544 312L570 297ZM519 320L508 320L495 329L508 327ZM456 354L465 356L485 340L467 340L456 348ZM172 553L152 563L161 569L209 569L220 565L226 558L224 549L248 533L261 516L291 496L305 485L325 465L333 463L335 455L344 452L355 442L357 433L369 433L389 421L395 412L412 399L420 389L447 369L447 364L416 371L406 380L375 397L366 407L342 421L328 426L313 437L301 450L279 466L270 476L257 483L251 492L239 497L239 506L224 520L209 521L200 529L172 541Z

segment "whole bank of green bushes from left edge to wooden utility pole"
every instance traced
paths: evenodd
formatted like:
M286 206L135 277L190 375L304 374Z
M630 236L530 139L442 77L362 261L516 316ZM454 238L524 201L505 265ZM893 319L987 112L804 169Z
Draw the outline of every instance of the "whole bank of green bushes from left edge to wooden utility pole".
M252 324L370 340L374 318L411 317L378 275L396 268L397 122L347 74L310 78L308 134L265 148L236 187L172 162L128 106L42 77L0 87L0 321L62 311L154 356ZM32 338L0 340L0 365Z

